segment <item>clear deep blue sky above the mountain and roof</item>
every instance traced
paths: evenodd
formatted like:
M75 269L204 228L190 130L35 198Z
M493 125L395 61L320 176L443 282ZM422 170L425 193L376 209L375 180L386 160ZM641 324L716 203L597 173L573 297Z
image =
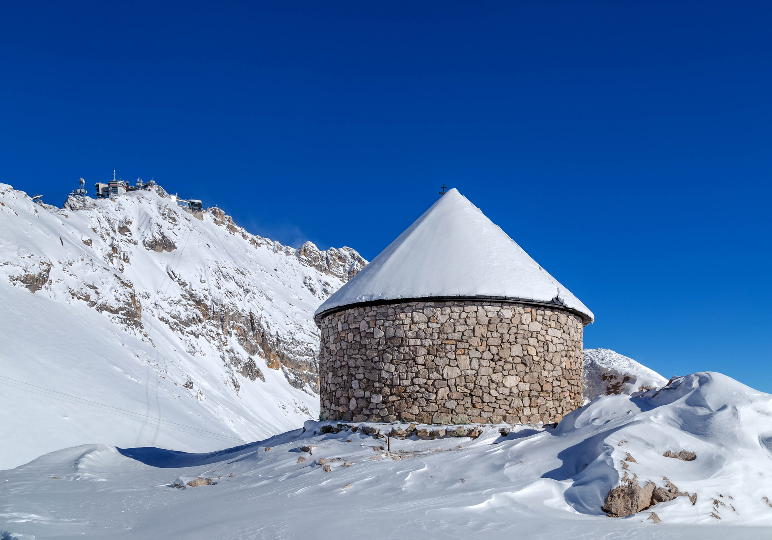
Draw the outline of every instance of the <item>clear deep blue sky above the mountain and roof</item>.
M457 187L585 346L772 392L769 2L5 2L0 181L371 259Z

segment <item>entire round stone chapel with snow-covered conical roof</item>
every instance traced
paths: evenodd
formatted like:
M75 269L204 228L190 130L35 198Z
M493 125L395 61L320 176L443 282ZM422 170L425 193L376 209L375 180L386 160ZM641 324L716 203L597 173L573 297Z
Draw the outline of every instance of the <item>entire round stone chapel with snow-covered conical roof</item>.
M547 424L582 405L592 312L455 189L314 319L325 420Z

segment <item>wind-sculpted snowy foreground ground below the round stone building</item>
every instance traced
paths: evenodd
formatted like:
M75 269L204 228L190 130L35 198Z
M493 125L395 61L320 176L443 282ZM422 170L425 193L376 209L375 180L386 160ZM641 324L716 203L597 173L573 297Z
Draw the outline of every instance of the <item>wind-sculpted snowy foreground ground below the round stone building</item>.
M403 440L402 431L387 444L322 427L308 422L305 432L208 455L104 446L49 454L0 472L0 530L19 538L770 538L772 396L718 373L638 397L598 397L557 429L516 427L506 437L499 426L477 427L476 439L443 430L435 440L418 432ZM682 451L694 459L664 455ZM186 485L198 477L213 484ZM609 491L633 482L683 495L606 517Z

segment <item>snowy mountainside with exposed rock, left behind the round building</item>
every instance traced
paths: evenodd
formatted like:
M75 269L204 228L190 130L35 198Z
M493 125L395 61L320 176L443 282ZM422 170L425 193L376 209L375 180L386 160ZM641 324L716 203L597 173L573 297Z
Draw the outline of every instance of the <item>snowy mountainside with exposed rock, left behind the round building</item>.
M58 209L0 184L0 469L86 443L209 451L318 417L311 316L364 264L157 187Z

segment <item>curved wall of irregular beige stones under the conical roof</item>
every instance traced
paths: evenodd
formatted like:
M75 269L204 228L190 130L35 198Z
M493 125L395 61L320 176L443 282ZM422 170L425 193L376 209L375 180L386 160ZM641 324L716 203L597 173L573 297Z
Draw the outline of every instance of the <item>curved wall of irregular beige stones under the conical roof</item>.
M503 302L364 306L321 321L327 420L558 422L582 404L581 319Z

